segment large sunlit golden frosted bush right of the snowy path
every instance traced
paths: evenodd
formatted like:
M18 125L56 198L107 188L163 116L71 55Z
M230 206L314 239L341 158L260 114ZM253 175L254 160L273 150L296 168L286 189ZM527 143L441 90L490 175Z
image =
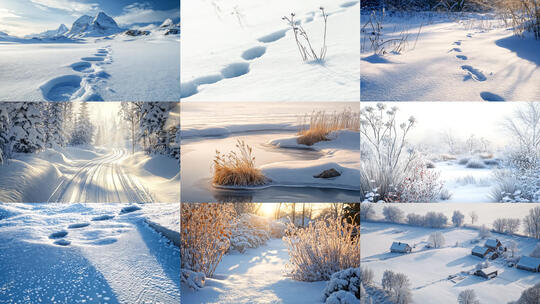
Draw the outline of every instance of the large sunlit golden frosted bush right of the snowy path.
M299 281L328 280L340 270L360 265L358 226L341 219L318 220L305 228L289 224L283 241L287 268Z

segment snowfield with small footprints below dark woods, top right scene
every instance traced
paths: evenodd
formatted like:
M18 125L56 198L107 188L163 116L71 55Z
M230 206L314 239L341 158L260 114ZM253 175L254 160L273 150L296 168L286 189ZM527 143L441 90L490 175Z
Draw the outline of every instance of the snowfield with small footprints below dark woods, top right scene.
M362 33L365 101L532 101L540 98L540 41L491 14L387 13L383 37L408 34L401 53L374 55ZM362 14L362 26L369 14ZM420 33L418 35L418 33ZM417 38L418 36L418 38Z

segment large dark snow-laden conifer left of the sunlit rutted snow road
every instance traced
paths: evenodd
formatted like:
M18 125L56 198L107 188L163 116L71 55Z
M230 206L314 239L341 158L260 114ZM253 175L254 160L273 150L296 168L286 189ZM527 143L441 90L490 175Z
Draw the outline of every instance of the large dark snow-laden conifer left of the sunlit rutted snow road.
M43 104L37 102L13 103L11 112L9 150L19 153L34 153L45 146L43 134Z

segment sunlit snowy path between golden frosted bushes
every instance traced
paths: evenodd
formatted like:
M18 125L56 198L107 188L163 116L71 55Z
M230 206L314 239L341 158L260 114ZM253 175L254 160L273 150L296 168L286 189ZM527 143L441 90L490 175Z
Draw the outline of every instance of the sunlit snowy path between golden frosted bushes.
M322 303L326 282L300 282L286 277L289 255L281 239L225 255L206 286L182 286L183 303Z

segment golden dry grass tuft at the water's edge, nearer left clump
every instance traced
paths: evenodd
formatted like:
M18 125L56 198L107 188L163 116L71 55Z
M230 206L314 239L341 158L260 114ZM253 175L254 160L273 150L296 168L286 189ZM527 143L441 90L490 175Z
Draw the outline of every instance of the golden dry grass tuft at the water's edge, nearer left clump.
M237 140L235 151L222 154L216 150L214 158L214 176L212 182L221 186L259 186L268 179L255 167L253 149L243 140Z

